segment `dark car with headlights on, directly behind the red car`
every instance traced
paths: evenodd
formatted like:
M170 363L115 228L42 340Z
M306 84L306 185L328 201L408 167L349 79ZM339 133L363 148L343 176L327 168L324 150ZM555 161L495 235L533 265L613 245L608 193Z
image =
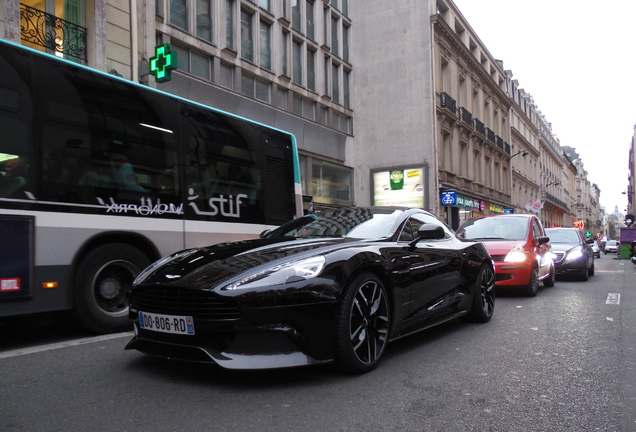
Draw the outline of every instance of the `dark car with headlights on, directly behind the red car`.
M594 276L593 240L589 242L577 228L546 228L554 254L556 275L588 280Z

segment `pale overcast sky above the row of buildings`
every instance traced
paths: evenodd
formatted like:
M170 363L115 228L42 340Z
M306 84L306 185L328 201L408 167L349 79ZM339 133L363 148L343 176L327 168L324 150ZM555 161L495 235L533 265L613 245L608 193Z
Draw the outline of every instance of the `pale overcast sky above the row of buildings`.
M601 205L624 214L636 123L636 1L454 2L533 96L560 144L579 153Z

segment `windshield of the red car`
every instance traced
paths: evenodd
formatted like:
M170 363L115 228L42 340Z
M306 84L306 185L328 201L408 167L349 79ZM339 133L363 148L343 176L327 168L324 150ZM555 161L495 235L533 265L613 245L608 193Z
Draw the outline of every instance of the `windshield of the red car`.
M525 240L528 219L524 217L483 217L469 219L459 227L458 236L471 240Z

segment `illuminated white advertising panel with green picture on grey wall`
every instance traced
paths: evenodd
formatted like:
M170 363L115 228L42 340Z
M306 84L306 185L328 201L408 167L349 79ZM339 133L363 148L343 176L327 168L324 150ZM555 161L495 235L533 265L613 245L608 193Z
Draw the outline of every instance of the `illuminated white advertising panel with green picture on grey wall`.
M374 206L424 208L424 167L372 171L371 181Z

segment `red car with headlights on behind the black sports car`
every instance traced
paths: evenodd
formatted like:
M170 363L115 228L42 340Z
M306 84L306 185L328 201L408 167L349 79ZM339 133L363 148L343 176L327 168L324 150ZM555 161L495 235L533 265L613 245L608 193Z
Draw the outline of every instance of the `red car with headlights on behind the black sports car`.
M537 295L540 281L554 286L550 238L535 215L474 217L457 229L457 235L484 243L495 263L495 286L520 288L529 297Z

